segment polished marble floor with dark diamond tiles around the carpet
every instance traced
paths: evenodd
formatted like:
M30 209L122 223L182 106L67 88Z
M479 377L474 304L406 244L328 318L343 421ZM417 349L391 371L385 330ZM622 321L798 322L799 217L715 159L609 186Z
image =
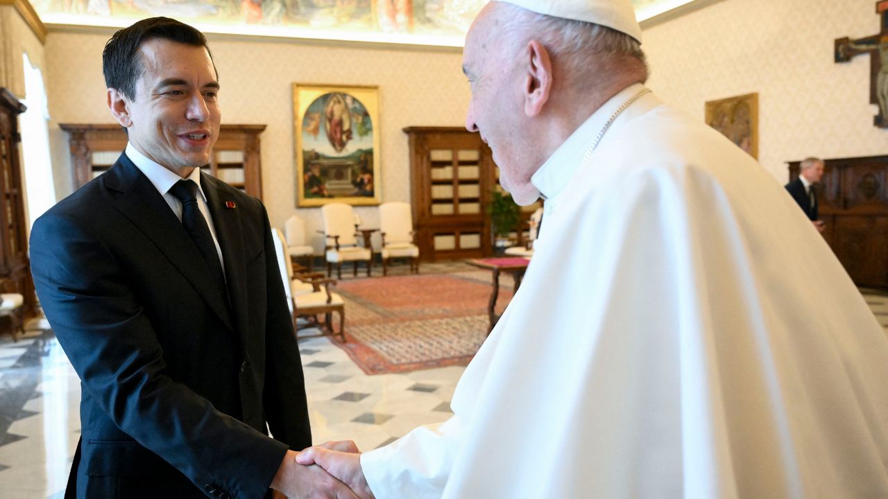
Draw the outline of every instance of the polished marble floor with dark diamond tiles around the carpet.
M441 268L447 272L448 269ZM344 276L345 277L345 276ZM888 330L888 297L867 294ZM61 498L80 430L80 384L45 321L0 338L0 497ZM327 338L299 342L315 442L351 438L377 448L450 416L464 368L367 376Z

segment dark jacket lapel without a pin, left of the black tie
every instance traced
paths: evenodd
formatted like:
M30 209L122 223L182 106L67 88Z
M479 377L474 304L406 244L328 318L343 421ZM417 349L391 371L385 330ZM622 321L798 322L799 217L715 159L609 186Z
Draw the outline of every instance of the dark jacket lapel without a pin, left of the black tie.
M155 243L178 272L191 282L228 329L234 330L226 297L221 295L220 289L210 277L191 237L151 181L136 168L126 154L121 154L114 167L102 176L102 182L111 193L115 209Z

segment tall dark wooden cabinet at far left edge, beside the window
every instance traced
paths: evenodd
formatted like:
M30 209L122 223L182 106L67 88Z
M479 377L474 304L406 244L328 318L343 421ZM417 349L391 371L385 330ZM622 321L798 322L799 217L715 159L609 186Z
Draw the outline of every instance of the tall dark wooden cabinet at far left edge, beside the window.
M19 156L19 115L25 106L6 89L0 89L0 277L8 278L20 293L26 316L36 315L36 294L28 260L28 231L22 193Z

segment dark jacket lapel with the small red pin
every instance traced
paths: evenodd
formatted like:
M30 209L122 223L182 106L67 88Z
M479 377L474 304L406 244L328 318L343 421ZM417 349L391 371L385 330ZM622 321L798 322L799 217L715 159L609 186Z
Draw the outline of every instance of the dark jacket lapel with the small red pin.
M219 181L201 173L201 187L207 196L210 217L216 227L216 237L222 257L225 260L226 287L234 323L242 343L246 342L248 330L247 316L247 256L243 249L243 229L241 211L232 196L218 186Z

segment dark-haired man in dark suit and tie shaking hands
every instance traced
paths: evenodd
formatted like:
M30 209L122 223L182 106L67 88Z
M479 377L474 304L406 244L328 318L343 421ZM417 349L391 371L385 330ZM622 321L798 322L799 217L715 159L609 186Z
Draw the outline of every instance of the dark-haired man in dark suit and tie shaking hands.
M220 122L206 39L142 20L103 69L126 151L31 234L37 294L82 382L66 497L353 497L295 463L312 440L266 210L200 171Z

